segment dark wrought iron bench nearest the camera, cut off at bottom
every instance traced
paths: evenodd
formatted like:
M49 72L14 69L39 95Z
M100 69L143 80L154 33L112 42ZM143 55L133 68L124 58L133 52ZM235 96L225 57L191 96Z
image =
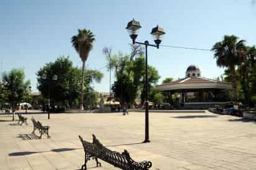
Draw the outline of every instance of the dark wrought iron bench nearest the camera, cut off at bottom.
M127 150L118 153L117 151L107 149L99 142L95 135L93 135L93 143L83 140L81 136L79 136L79 138L85 150L85 164L81 166L82 170L87 169L86 163L91 158L95 159L97 167L101 166L98 159L102 159L103 161L124 170L149 170L152 166L150 161L135 162L130 158L130 154Z

